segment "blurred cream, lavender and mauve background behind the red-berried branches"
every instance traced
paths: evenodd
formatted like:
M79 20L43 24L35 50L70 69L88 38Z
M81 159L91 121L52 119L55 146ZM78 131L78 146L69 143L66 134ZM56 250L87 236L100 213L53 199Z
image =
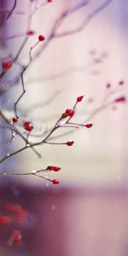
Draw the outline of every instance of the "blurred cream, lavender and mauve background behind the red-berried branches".
M32 4L39 7L42 3ZM22 50L20 63L29 60L29 49L37 42L38 35L43 34L49 40L57 17L64 9L71 9L79 3L84 1L55 0L38 9L31 24L34 35ZM109 4L95 14L102 3ZM39 57L25 73L26 95L20 101L19 113L32 119L37 129L35 134L53 127L61 113L72 108L77 96L81 95L84 95L84 100L79 103L74 121L82 123L88 119L93 127L69 130L66 136L61 136L64 131L56 132L55 135L60 137L55 138L55 142L73 140L73 147L43 145L38 148L43 155L41 159L28 149L3 164L1 170L13 172L61 166L61 172L48 175L61 183L56 187L38 177L1 179L1 208L4 202L10 201L21 204L29 214L27 226L20 226L21 245L11 247L9 253L3 251L8 229L0 226L2 255L128 255L128 106L127 103L110 105L91 116L106 96L106 84L111 84L110 90L113 90L119 81L125 81L111 99L128 95L128 3L126 0L102 3L89 1L69 15L58 33L78 27L85 17L93 15L83 30L53 38L42 54L39 52L42 45L33 50L33 58ZM11 6L9 1L6 8ZM4 30L6 37L26 32L28 1L17 1L15 10L25 15L13 15L8 20ZM23 38L19 37L6 42L12 55L22 41ZM18 72L19 66L15 64L8 79ZM16 86L12 86L1 100L2 108L6 102L9 115L13 114L15 99L20 94L20 81ZM32 108L34 105L38 107ZM17 143L20 143L18 139L14 148Z

